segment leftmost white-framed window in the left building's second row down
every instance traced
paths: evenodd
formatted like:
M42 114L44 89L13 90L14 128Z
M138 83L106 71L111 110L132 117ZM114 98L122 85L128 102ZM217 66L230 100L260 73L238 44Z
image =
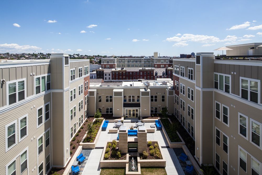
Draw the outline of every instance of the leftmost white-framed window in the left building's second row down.
M6 125L6 151L11 149L16 145L17 141L17 135L16 135L16 128L17 128L17 122L16 120L12 123L9 123Z

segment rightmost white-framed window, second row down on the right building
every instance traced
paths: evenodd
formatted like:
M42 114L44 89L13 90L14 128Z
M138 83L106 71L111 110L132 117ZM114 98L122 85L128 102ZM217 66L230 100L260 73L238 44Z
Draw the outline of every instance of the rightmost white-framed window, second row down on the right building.
M250 141L254 143L255 145L259 146L261 145L261 139L260 139L260 127L261 123L258 121L255 121L253 119L250 119Z

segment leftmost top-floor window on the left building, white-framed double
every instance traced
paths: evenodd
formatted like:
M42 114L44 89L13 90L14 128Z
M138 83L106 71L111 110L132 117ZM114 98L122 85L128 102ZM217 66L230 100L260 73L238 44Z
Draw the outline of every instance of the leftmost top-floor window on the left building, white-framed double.
M8 104L13 104L25 99L25 80L7 83Z

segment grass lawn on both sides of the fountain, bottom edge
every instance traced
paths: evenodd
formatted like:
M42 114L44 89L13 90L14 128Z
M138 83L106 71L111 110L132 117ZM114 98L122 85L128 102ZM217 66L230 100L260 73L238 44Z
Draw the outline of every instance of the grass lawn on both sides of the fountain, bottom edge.
M100 175L124 175L125 168L102 168ZM141 168L141 175L166 175L165 168Z

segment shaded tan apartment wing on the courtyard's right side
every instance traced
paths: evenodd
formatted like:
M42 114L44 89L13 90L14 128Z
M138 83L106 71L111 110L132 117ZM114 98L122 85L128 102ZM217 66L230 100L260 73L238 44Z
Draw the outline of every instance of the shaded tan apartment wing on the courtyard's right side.
M174 114L195 140L199 164L220 174L261 174L261 75L261 56L173 59Z

